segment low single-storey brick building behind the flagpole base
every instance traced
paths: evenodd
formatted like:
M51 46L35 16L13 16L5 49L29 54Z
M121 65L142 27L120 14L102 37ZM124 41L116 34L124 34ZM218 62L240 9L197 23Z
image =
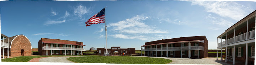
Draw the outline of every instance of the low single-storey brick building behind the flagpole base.
M105 54L105 52L106 52L106 48L97 48L96 53L99 55L103 55ZM123 53L125 53L125 55L131 55L131 54L135 54L135 48L111 47L107 49L107 52L113 56L122 55Z

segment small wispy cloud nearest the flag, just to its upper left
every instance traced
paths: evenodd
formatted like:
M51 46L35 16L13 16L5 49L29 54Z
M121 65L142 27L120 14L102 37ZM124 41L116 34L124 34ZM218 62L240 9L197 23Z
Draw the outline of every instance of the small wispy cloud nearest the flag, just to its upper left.
M78 5L74 7L74 14L78 15L78 17L82 17L84 14L90 14L91 8L87 8L86 6Z

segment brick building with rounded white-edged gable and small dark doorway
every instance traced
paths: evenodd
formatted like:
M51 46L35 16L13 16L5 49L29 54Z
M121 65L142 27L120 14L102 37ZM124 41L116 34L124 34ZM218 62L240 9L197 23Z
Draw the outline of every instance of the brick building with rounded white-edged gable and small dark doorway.
M9 56L15 57L32 55L30 40L25 35L15 35L13 37L5 38L1 41L4 41L4 44L9 43ZM5 48L4 51L4 54L7 55L8 48Z

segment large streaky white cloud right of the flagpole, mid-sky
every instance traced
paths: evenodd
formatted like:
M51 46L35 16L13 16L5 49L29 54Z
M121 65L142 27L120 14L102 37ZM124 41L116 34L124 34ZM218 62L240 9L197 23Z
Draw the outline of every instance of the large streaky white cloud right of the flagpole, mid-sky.
M154 26L146 25L143 20L149 17L144 17L143 15L137 15L130 19L119 21L116 23L110 23L109 27L112 27L113 31L119 33L129 33L129 34L147 34L147 33L168 33L168 31L158 30Z

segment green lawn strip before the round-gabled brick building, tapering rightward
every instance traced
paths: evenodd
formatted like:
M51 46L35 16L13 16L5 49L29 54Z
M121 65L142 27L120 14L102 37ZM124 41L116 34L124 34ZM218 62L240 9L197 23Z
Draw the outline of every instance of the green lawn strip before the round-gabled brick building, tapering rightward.
M58 55L53 55L53 56L20 56L20 57L14 57L14 58L5 58L5 59L2 59L2 61L9 61L9 62L27 62L33 58L40 58L40 57L62 57L63 55L61 56L58 56ZM67 56L71 56L71 55L67 55ZM73 55L74 56L74 55ZM81 55L79 55L81 56ZM85 56L85 55L83 55ZM86 55L86 56L92 56L92 55Z

